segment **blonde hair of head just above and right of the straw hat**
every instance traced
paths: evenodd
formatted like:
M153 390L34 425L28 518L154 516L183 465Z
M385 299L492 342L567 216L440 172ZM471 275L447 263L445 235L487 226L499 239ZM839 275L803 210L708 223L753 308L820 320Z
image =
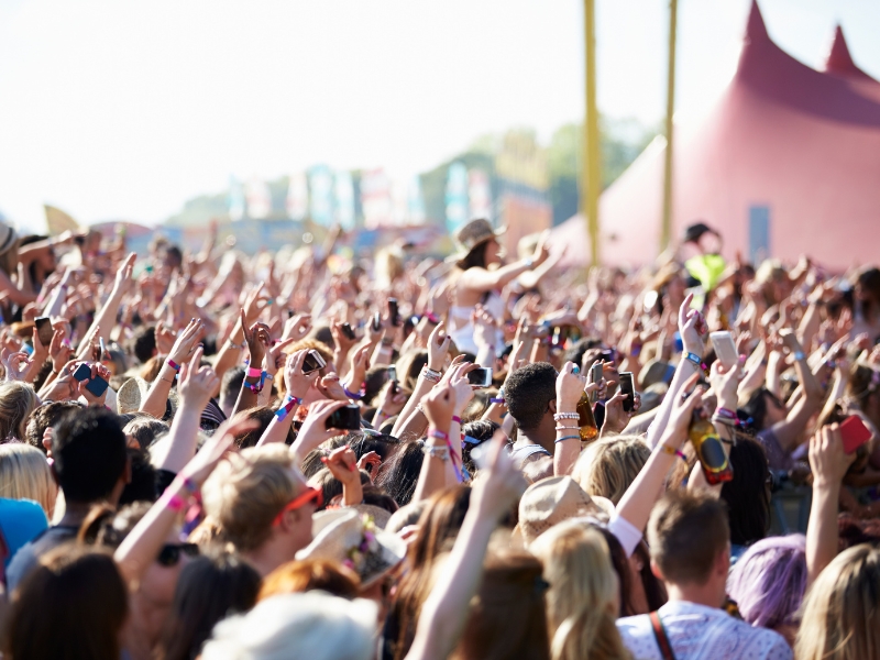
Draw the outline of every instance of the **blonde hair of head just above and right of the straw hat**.
M650 455L651 449L639 436L597 440L581 453L571 476L588 495L607 497L616 505Z

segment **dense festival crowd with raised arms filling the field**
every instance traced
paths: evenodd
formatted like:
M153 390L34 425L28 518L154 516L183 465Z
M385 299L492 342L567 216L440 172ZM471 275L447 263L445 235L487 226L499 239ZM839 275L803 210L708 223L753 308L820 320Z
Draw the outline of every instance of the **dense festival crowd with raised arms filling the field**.
M880 658L880 271L502 232L0 224L2 657Z

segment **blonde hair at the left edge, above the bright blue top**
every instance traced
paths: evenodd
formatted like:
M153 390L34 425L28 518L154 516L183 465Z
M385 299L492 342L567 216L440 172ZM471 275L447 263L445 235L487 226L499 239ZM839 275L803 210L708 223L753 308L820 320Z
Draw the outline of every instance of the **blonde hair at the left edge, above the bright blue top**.
M46 455L30 444L0 444L0 497L33 499L52 519L58 486L52 479Z

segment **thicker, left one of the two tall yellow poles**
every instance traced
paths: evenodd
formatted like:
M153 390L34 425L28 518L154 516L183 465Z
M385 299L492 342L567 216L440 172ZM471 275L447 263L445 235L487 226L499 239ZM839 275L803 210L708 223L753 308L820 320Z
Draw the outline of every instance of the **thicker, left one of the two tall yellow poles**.
M600 264L598 194L602 187L598 110L596 109L596 22L595 0L584 0L584 52L586 58L586 112L584 117L583 160L581 182L581 213L586 219L590 235L590 257Z

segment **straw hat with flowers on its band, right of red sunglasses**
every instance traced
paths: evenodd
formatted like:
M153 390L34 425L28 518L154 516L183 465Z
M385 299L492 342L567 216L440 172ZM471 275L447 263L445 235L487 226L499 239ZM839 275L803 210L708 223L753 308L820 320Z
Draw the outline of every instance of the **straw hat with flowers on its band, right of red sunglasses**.
M356 507L315 514L312 535L315 539L297 552L296 558L300 561L327 559L345 565L358 573L363 588L374 584L406 557L403 539L380 528L372 516Z

